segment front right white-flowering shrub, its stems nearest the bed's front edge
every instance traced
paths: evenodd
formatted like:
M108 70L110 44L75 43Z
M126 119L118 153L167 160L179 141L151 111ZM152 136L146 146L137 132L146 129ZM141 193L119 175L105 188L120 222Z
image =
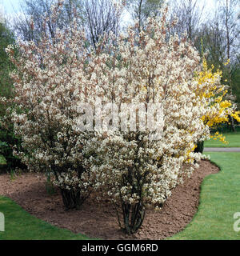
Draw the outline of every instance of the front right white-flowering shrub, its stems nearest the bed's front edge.
M91 64L98 78L96 94L102 102L114 102L118 113L128 113L124 104L129 102L162 104L158 140L150 139L150 126L141 130L138 116L135 132L98 130L86 147L96 152L89 159L95 187L114 203L119 225L128 234L142 225L148 206L162 206L170 190L191 174L194 160L201 157L194 154L194 144L209 137L201 119L206 99L194 93L198 52L186 39L166 38L166 13L165 8L161 17L148 18L140 34L138 24L130 27L111 54L99 54Z

